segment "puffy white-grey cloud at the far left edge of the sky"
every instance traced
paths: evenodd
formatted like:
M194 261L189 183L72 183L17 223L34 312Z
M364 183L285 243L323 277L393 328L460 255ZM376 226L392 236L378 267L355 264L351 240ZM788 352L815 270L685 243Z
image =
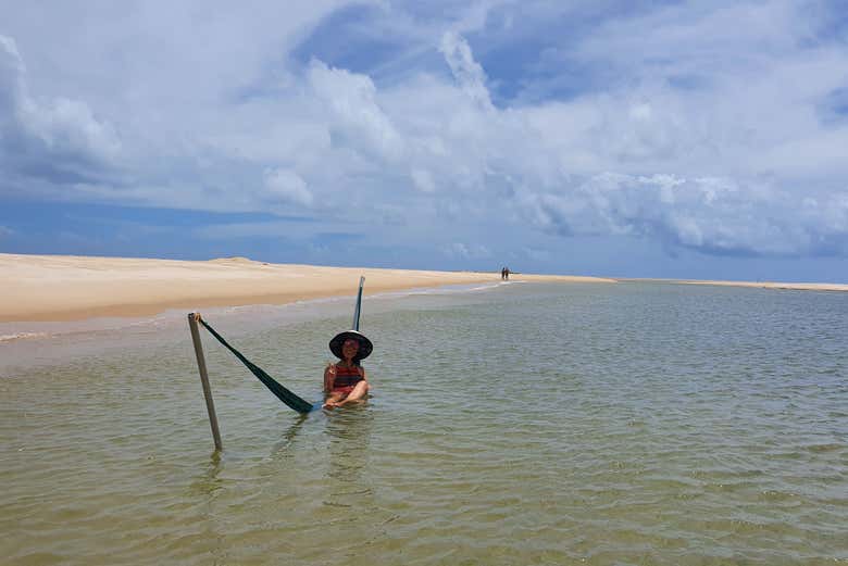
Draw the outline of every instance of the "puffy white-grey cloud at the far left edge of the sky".
M85 102L35 99L16 43L5 36L0 36L0 163L7 174L78 183L96 177L121 151L115 128Z

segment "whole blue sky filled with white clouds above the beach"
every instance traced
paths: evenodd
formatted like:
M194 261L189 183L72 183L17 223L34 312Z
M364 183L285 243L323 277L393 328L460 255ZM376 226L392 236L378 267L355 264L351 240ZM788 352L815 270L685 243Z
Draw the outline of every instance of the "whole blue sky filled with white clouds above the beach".
M848 282L848 3L0 0L0 252Z

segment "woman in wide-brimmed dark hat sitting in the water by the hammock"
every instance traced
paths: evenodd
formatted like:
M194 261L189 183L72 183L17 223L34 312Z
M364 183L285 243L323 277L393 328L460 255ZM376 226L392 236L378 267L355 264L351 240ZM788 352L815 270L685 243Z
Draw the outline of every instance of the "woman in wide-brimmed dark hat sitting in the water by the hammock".
M325 408L342 406L360 401L369 392L365 369L359 365L371 354L371 340L356 330L348 330L329 341L329 350L339 359L337 364L327 364L324 369Z

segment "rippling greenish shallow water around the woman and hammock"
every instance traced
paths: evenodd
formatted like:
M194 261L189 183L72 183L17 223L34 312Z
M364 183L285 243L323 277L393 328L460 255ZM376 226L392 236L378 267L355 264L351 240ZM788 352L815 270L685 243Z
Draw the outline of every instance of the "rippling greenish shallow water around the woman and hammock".
M848 294L514 284L363 310L373 397L307 417L204 336L220 456L182 314L0 344L0 563L848 564ZM207 319L317 401L350 312Z

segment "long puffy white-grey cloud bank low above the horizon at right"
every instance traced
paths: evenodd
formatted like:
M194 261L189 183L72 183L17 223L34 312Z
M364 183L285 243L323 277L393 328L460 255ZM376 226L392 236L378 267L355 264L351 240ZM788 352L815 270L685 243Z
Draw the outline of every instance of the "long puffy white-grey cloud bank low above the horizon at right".
M844 197L798 201L725 178L602 174L524 206L531 222L559 234L659 238L719 255L826 254L846 235Z

